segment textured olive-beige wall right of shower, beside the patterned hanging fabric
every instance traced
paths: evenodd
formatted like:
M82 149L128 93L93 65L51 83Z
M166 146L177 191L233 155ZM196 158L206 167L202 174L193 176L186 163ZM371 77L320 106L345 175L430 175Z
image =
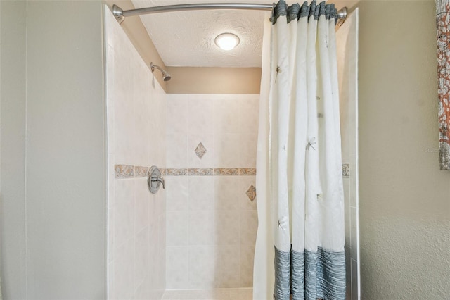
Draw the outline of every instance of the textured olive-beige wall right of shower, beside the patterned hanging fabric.
M448 299L435 1L358 6L361 299Z

